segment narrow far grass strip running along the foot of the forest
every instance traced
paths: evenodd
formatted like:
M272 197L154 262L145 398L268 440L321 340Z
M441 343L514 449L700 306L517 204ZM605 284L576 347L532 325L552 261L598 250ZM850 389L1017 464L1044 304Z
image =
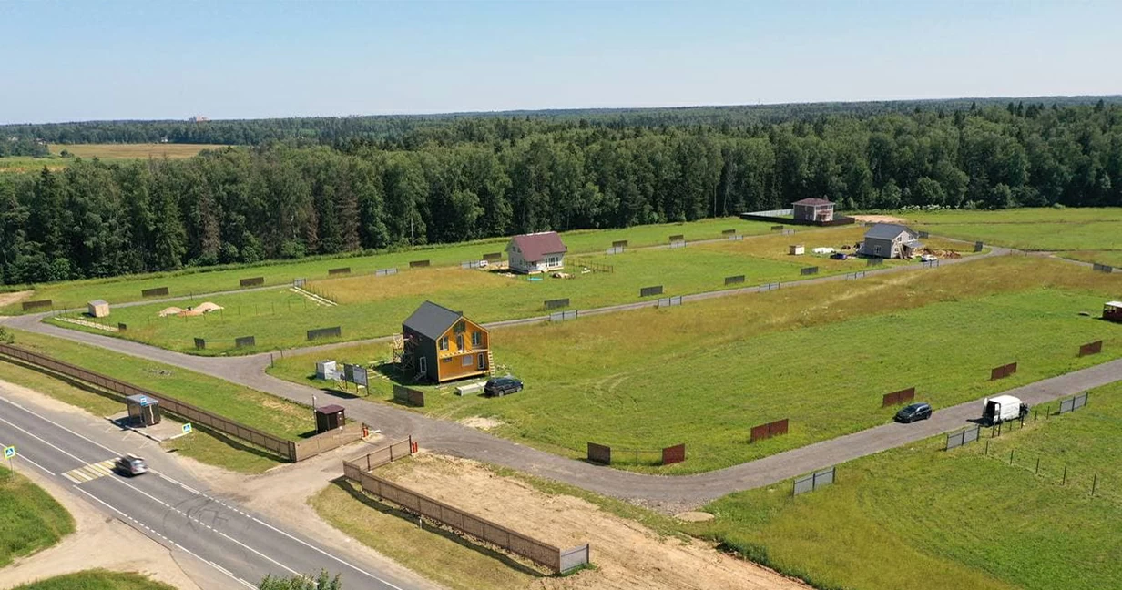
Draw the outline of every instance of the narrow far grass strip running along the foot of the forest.
M613 241L628 240L631 246L653 246L666 243L672 234L683 234L687 240L709 240L720 238L721 231L735 229L742 234L763 234L771 231L764 222L743 221L736 218L719 218L689 223L663 223L637 225L613 230L581 230L562 234L569 251L606 251ZM794 228L815 230L816 228ZM794 239L791 237L791 239ZM112 278L72 280L48 285L36 285L30 299L50 299L55 308L84 307L92 299L109 303L142 301L141 291L167 287L171 296L237 291L240 279L263 277L266 285L291 285L295 278L324 279L332 268L349 267L352 274L374 273L379 268L408 268L410 261L429 260L433 266L457 266L463 261L480 260L484 253L504 251L508 238L495 238L458 245L421 247L413 250L385 252L373 256L327 258L315 260L273 261L256 266L194 268L175 273L154 273ZM505 257L505 255L504 255ZM15 288L15 287L13 287ZM0 307L3 314L21 314L19 303Z

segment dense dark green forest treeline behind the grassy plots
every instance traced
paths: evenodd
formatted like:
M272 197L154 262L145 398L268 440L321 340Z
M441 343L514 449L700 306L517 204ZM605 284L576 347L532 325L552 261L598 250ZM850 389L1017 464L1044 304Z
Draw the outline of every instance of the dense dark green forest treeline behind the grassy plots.
M776 209L1122 205L1122 105L779 123L465 118L398 139L267 142L0 175L7 284Z

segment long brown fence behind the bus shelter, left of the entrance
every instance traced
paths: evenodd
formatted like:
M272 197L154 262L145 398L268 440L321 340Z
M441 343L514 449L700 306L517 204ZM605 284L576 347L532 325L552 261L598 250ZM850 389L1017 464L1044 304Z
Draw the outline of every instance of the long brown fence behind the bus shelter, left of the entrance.
M239 424L229 418L224 418L212 412L195 407L186 402L181 402L174 397L168 397L164 394L157 394L149 389L144 389L135 385L113 379L112 377L107 377L104 375L63 362L61 360L53 359L45 354L39 354L37 352L31 352L29 350L21 349L19 347L13 347L10 344L0 344L0 354L7 354L8 357L19 359L24 362L42 367L44 369L57 372L59 375L65 375L67 377L73 377L81 381L85 381L95 385L102 389L107 389L119 394L121 396L130 395L142 395L150 397L153 399L159 400L160 407L164 412L169 414L175 414L187 422L195 425L202 425L215 431L229 434L236 439L241 439L256 444L263 449L272 451L279 454L280 457L287 458L289 461L296 460L296 450L292 441L282 439L279 436L274 436L272 434L266 434L257 428L246 426L245 424Z

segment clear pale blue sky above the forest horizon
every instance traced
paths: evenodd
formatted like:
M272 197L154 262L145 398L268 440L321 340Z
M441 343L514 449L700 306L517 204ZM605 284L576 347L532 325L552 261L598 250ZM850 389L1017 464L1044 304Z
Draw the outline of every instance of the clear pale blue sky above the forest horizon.
M1122 2L0 0L0 122L1118 94Z

